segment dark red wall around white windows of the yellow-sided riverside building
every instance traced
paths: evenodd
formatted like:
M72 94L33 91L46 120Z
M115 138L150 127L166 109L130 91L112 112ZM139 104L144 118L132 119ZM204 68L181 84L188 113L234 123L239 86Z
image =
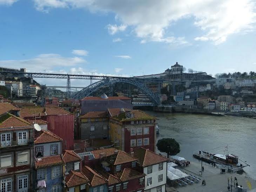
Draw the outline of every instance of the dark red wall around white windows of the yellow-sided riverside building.
M136 146L133 147L133 149L143 147L145 149L149 149L150 151L155 152L155 126L150 126L149 127L149 134L148 135L130 135L130 131L128 129L124 130L124 151L125 152L130 152L130 140L131 139L143 139L143 138L149 138L149 145L142 145L142 146ZM143 144L143 140L142 140ZM136 140L136 145L137 145L137 140Z

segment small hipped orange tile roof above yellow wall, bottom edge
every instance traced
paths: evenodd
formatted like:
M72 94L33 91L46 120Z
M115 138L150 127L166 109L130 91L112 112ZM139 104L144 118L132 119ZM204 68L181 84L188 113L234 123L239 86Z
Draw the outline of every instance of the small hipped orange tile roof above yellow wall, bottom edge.
M78 185L83 185L88 183L88 179L86 176L81 172L76 172L71 170L69 174L65 178L66 186L67 187L74 187Z

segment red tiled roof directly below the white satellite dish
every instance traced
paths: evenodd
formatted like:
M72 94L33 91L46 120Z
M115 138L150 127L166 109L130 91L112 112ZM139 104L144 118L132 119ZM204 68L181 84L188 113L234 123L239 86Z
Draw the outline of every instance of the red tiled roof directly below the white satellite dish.
M60 142L62 139L50 131L35 131L34 144Z

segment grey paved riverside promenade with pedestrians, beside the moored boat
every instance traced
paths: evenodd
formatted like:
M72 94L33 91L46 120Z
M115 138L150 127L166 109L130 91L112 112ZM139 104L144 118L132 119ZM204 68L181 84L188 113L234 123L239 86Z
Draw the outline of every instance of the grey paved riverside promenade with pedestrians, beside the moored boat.
M248 192L250 190L256 190L256 181L247 177L245 173L241 175L238 173L228 173L226 171L225 174L221 174L219 168L211 167L208 163L203 162L203 166L204 171L202 177L200 177L201 161L190 162L190 165L184 168L178 167L177 169L180 169L183 172L187 172L188 174L201 178L201 181L184 187L175 187L177 192L228 192L228 178L229 184L231 184L231 176L233 176L233 185L234 178L236 177L238 185L242 185ZM206 180L205 186L202 185L203 179ZM232 191L237 192L235 187L233 187Z

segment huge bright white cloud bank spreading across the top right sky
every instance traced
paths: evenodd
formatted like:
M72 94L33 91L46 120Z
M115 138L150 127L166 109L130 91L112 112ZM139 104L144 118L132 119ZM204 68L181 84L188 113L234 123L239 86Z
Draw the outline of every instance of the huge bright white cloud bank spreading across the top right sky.
M173 43L166 35L168 27L180 19L192 18L194 25L203 31L195 40L213 41L215 44L227 40L231 34L248 32L255 27L256 13L253 0L34 0L36 8L87 8L91 12L112 12L121 26L108 25L109 33L115 34L132 26L142 42L157 41Z

